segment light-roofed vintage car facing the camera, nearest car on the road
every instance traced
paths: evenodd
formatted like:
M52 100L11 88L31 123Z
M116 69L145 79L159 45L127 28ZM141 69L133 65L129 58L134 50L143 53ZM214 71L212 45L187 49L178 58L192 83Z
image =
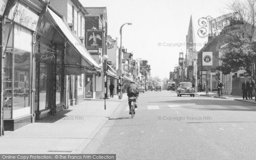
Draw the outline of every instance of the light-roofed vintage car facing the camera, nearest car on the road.
M177 88L177 96L190 95L195 96L195 88L192 87L191 82L180 82Z

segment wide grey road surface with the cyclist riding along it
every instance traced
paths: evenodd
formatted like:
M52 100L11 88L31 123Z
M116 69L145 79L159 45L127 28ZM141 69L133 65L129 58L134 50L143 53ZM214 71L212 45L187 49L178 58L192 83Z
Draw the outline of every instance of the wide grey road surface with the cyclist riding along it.
M84 154L117 160L256 159L253 104L174 91L140 93L134 119L122 103Z

